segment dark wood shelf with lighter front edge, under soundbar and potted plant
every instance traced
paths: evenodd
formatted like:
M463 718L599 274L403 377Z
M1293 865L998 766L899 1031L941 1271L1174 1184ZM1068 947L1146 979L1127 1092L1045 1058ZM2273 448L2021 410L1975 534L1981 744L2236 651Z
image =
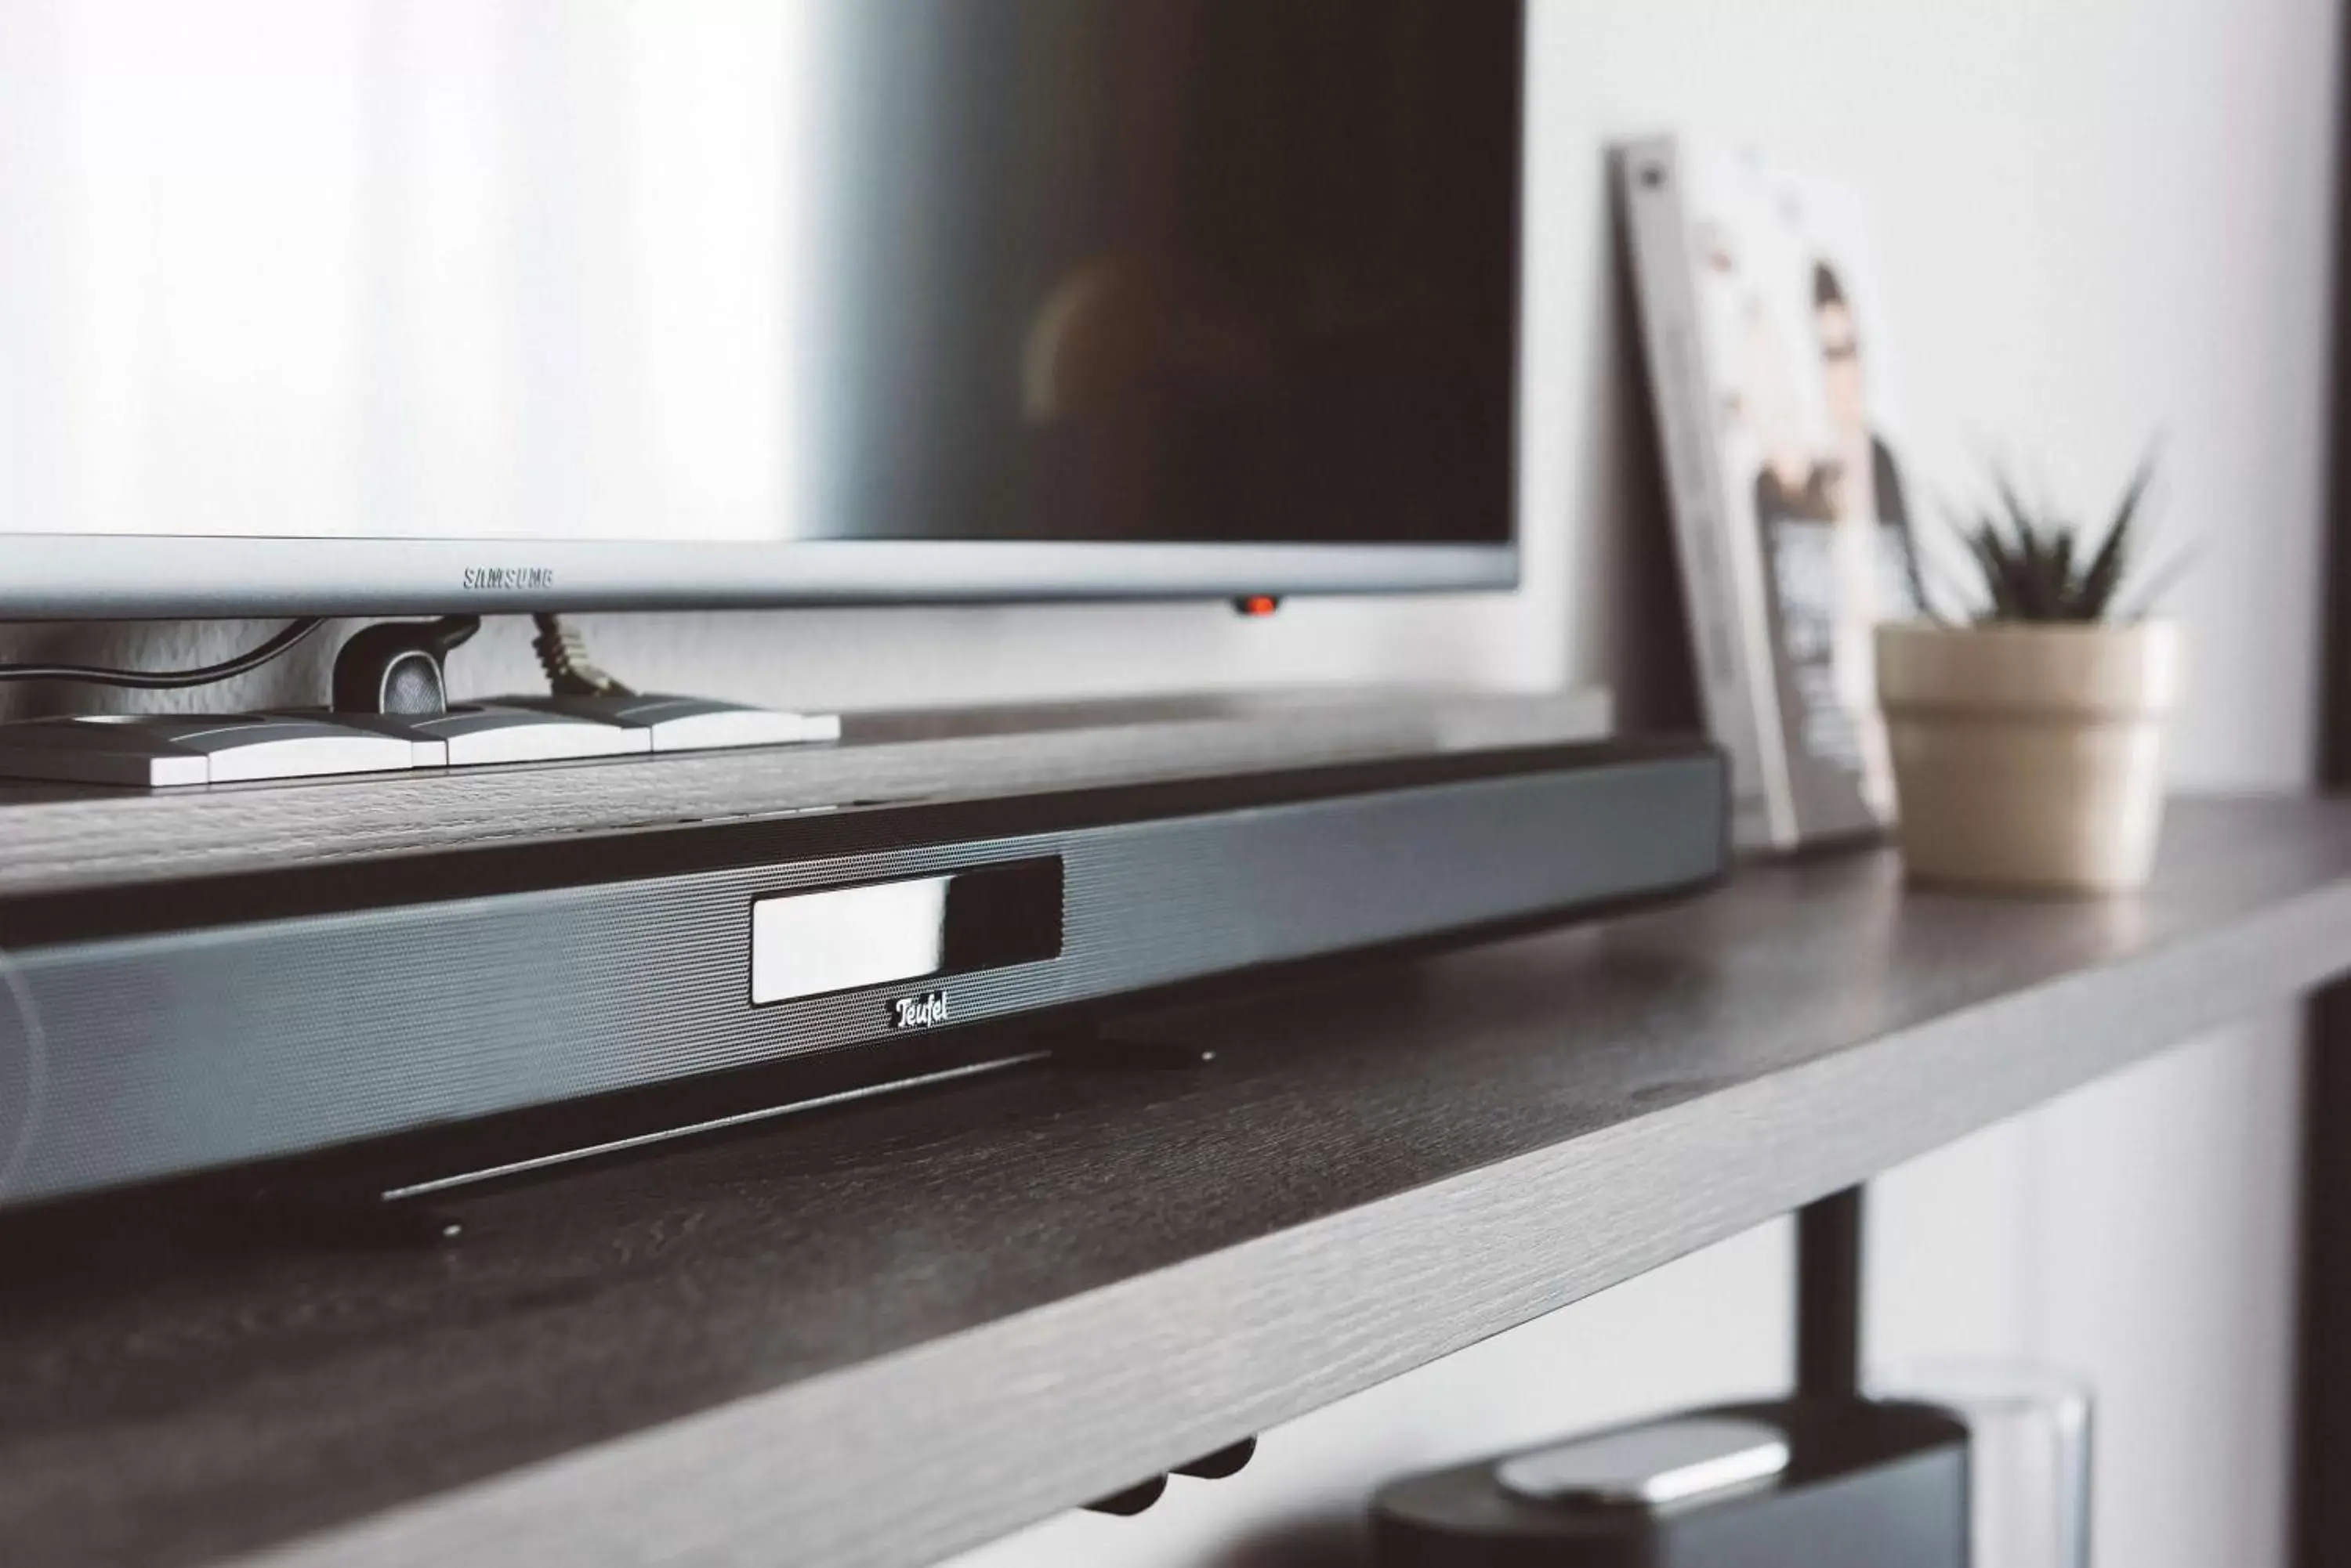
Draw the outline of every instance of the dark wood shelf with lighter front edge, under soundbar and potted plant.
M2351 804L2189 802L2118 903L1886 853L1138 1016L451 1197L433 1251L0 1286L9 1563L926 1563L2351 966Z

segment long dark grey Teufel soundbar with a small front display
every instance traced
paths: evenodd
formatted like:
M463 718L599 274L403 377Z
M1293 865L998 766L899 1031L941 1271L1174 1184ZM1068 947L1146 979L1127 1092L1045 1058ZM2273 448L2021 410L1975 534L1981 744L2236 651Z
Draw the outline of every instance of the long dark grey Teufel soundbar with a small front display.
M0 898L0 1206L1467 936L1723 867L1721 757L1608 741L21 891Z

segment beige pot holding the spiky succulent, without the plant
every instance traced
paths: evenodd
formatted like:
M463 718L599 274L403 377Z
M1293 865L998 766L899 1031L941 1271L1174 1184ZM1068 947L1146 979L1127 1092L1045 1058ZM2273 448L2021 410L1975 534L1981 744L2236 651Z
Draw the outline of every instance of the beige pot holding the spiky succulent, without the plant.
M1881 625L1909 872L2052 893L2144 884L2179 663L2168 621Z

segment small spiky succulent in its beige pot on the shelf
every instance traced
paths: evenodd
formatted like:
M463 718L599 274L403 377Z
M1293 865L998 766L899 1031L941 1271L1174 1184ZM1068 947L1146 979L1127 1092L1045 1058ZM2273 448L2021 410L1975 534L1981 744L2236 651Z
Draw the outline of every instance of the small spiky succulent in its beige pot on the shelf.
M2104 538L1998 505L1961 536L1982 576L1965 621L1876 630L1902 856L1930 882L2114 893L2146 882L2163 823L2163 719L2179 628L2146 616L2132 524L2139 465Z

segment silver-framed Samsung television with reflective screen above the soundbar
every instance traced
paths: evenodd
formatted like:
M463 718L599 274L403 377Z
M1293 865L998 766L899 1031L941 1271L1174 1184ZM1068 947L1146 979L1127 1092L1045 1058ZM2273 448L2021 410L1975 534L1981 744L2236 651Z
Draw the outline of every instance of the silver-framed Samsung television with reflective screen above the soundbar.
M0 616L1500 588L1521 0L87 0Z

